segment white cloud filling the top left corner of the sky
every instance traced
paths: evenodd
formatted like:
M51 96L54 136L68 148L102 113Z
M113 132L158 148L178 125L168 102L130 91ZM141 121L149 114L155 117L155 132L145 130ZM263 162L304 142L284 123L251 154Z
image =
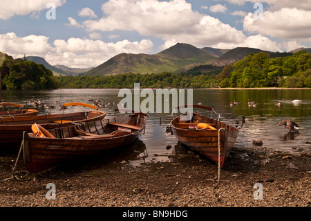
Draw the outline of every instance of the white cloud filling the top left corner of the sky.
M41 10L47 10L48 3L56 7L63 6L66 0L1 0L0 19L10 19L15 15L30 15L37 17Z

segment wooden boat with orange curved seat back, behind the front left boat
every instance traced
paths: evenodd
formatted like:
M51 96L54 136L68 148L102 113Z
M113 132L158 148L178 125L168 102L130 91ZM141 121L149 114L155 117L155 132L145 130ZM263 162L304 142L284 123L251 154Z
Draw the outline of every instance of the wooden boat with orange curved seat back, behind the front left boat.
M44 114L37 116L12 116L0 118L0 148L12 149L21 145L23 131L32 132L31 126L37 123L46 129L64 127L75 123L97 121L103 119L106 113L100 112L98 107L84 103L66 103L63 107L81 105L95 110L62 114Z

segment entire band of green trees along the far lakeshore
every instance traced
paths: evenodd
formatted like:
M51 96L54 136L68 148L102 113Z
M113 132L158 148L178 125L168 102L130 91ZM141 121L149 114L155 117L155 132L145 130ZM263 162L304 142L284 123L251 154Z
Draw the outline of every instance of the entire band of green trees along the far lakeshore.
M122 73L113 76L53 76L43 64L6 55L0 67L4 89L311 87L311 54L252 53L221 69L200 66L182 73ZM205 70L205 71L204 71Z

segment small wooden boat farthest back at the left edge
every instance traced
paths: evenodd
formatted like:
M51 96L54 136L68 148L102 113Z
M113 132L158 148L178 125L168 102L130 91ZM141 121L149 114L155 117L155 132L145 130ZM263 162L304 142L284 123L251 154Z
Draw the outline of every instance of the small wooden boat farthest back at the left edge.
M7 111L1 111L0 118L12 116L33 116L39 113L37 109L23 109L24 106L17 103L0 103L0 107L8 106L19 107L19 109L8 109Z

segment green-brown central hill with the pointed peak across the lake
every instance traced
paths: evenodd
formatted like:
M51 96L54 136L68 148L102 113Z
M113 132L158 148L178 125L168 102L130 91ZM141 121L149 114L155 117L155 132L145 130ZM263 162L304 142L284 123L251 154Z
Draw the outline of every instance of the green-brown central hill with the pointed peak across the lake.
M198 65L207 64L217 58L190 44L178 43L156 55L127 54L116 55L110 60L91 69L84 76L109 76L119 73L178 73Z

